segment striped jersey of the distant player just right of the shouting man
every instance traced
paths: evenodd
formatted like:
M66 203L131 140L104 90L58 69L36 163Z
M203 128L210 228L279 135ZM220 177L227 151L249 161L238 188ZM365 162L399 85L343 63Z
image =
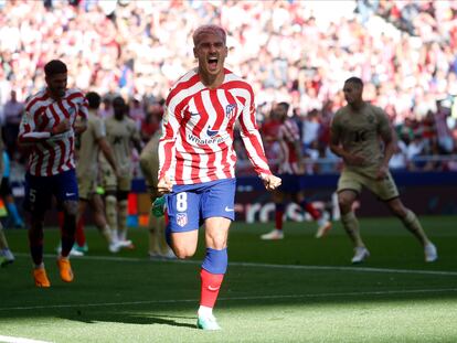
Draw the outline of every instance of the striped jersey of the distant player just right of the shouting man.
M293 119L286 119L278 131L278 141L283 153L281 163L279 163L280 174L298 174L298 156L295 150L296 142L300 142L300 131L297 122Z

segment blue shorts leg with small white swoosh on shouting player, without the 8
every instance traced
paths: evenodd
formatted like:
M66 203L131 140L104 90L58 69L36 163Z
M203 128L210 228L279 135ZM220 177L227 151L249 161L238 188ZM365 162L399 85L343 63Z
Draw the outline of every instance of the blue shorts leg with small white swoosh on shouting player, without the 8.
M236 180L225 179L208 182L204 185L200 211L202 218L224 217L235 219Z

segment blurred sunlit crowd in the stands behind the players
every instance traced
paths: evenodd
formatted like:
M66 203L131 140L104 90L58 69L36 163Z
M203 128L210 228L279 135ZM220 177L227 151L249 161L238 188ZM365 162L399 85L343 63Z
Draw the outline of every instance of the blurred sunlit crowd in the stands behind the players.
M393 168L457 168L417 159L457 153L457 1L0 0L3 127L15 130L26 97L44 86L43 64L62 58L68 86L105 95L102 116L114 95L128 99L147 141L168 89L195 65L190 34L203 22L227 30L227 65L253 85L264 133L275 135L272 105L291 104L306 156L321 159L309 173L338 168L329 124L354 75L397 129ZM276 160L274 139L266 149Z

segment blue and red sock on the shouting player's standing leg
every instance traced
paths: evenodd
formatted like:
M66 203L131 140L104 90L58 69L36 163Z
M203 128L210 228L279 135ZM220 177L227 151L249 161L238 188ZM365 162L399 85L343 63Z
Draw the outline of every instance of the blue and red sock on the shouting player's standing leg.
M206 256L200 271L202 282L200 308L214 308L226 269L227 248L222 250L206 248Z

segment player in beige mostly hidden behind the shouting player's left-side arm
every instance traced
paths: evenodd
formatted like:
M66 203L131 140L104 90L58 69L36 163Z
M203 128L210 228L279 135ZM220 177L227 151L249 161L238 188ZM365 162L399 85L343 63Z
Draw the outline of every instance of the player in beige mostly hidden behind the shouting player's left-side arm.
M157 192L157 176L159 172L159 139L161 130L157 130L148 143L142 148L140 154L140 168L149 190L151 202L159 196ZM149 212L149 257L151 258L176 258L173 251L167 245L164 228L164 217L156 217Z

